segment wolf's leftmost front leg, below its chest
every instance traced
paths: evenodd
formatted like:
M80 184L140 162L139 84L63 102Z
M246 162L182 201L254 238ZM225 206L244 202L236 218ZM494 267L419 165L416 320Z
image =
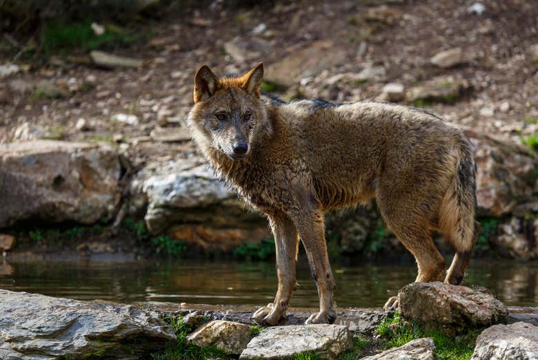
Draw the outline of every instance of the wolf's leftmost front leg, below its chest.
M279 287L275 301L257 310L252 319L261 325L277 325L286 316L286 307L295 287L299 238L295 225L286 214L269 214L268 217L277 248Z

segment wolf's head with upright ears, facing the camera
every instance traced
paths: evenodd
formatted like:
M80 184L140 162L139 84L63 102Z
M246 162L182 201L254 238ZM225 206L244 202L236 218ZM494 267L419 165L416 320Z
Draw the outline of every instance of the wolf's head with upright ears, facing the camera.
M206 65L197 70L187 126L202 151L215 149L233 160L251 153L256 139L267 133L262 79L261 63L241 77L216 77Z

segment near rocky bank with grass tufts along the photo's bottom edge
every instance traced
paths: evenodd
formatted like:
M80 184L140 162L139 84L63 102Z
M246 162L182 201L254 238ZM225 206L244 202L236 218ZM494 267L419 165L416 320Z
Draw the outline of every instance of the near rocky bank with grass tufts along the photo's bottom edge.
M441 352L462 343L469 356L454 359L538 359L537 307L505 307L485 289L443 283L407 285L396 313L340 309L334 325L303 325L314 310L291 309L272 328L252 323L254 307L123 305L7 290L0 298L5 360L174 359L187 351L201 359L444 359Z

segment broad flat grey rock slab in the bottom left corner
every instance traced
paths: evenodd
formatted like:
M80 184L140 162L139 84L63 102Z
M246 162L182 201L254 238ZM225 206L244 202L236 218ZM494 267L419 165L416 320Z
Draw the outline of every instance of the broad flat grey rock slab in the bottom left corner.
M131 305L0 290L0 358L149 359L177 341L153 312Z

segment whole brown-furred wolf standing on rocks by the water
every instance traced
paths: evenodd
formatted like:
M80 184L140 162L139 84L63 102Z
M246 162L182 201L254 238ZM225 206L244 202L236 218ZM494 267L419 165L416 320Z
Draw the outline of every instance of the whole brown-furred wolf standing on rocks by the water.
M461 283L479 233L475 162L465 135L418 108L379 102L282 102L261 95L263 64L241 77L195 75L187 125L215 171L266 214L277 248L275 301L253 315L275 325L295 288L299 238L319 294L306 323L335 321L324 214L377 200L386 224L415 256L415 281L446 263L432 231L456 250L445 282ZM395 307L395 297L385 307Z

